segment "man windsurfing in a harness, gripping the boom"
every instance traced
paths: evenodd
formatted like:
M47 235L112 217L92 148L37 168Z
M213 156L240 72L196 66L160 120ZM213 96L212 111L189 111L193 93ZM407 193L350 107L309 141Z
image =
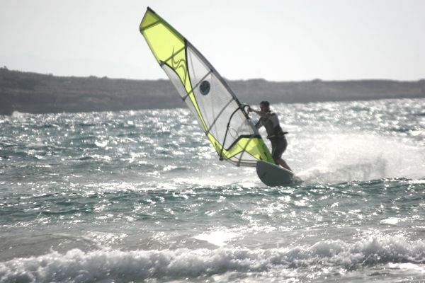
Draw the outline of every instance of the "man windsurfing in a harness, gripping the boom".
M279 124L278 115L271 112L270 103L268 101L261 101L260 111L254 110L251 107L248 108L248 112L256 112L260 116L259 122L256 123L255 127L259 129L261 126L266 128L267 139L271 141L271 155L273 159L283 168L292 171L288 164L282 159L282 154L288 146L285 134Z

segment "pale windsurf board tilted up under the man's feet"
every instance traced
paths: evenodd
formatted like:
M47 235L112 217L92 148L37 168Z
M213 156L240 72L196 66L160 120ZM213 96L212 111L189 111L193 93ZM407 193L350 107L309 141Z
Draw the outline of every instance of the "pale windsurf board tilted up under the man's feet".
M260 180L271 187L302 182L293 172L266 161L258 161L256 171Z

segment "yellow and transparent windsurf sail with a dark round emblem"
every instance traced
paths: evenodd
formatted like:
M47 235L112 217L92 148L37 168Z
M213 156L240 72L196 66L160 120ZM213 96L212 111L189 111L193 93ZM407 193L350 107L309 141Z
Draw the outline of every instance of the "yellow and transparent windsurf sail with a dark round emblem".
M275 163L258 129L226 81L176 29L151 8L140 33L220 156L236 166Z

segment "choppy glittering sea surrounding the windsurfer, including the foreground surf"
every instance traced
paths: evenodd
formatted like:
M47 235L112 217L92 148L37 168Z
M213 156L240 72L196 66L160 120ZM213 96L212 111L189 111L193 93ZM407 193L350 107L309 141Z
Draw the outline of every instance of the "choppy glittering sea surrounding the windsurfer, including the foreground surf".
M425 99L271 107L302 183L186 108L0 116L0 282L425 282Z

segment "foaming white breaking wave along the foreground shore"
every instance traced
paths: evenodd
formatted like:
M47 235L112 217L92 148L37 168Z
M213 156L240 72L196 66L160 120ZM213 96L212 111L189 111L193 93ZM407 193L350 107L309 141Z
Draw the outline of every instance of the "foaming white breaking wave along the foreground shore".
M191 250L69 250L0 262L1 282L129 282L183 279L226 272L273 272L282 268L359 270L388 265L425 272L425 242L403 237L354 243L319 241L312 246Z

